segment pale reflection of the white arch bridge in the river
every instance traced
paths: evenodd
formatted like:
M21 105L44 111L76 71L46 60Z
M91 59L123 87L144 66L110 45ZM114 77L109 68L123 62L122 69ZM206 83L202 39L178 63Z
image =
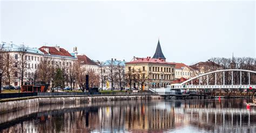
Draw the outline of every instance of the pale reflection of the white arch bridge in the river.
M252 120L255 120L255 115L256 115L255 109L246 109L246 108L174 108L174 111L176 113L188 114L188 115L190 115L191 121L199 122L199 123L202 122L202 120L203 120L202 117L205 116L204 118L206 120L203 121L203 123L208 124L208 125L212 124L212 121L209 122L209 117L213 116L213 122L215 123L215 125L217 125L217 123L219 125L219 126L215 127L215 129L217 129L219 131L238 132L238 130L240 130L241 132L247 132L247 130L251 130L250 132L256 132L256 130L255 130L256 125L254 124L254 121L252 123L250 123L251 115L254 116ZM197 114L198 117L193 116L195 114ZM230 117L231 117L231 120L225 120L225 119L230 119ZM244 120L242 120L242 119L244 119ZM219 123L220 120L223 123L223 126L221 125L221 123ZM239 120L239 122L238 122L238 120ZM228 122L228 121L230 121L230 122ZM242 121L247 121L247 126L242 124ZM229 127L229 125L231 127ZM232 128L234 130L232 130Z

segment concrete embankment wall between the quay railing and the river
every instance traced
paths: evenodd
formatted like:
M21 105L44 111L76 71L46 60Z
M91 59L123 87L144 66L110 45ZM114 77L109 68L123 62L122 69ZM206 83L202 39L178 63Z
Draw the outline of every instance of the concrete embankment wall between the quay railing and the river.
M0 102L0 112L23 109L31 106L47 104L83 104L89 101L118 101L118 100L146 100L161 99L159 95L111 95L111 96L87 96L87 97L33 97L28 99L16 99Z

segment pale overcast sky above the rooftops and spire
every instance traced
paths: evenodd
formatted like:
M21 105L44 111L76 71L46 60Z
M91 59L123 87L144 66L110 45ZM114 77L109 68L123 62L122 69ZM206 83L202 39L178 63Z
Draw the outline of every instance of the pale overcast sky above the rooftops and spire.
M255 2L1 2L1 41L60 46L92 60L255 57Z

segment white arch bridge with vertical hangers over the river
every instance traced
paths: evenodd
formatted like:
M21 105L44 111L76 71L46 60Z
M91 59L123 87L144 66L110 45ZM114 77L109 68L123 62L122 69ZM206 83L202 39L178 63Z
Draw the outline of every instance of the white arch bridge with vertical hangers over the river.
M238 85L234 85L233 84L233 72L234 71L238 71L240 72L240 84ZM219 72L223 72L223 75L221 75L221 81L223 84L217 84L217 73ZM225 84L225 72L231 72L231 84L226 85ZM242 72L246 72L248 73L248 83L246 84L242 84ZM235 88L256 88L256 85L251 85L251 76L250 73L256 73L256 71L251 71L251 70L242 70L242 69L226 69L226 70L217 70L217 71L211 71L211 72L207 72L204 73L202 75L190 78L188 80L186 80L183 83L180 84L176 84L176 85L168 85L167 88L171 88L174 90L183 90L183 89L203 89L203 88L207 88L207 89L235 89ZM209 75L215 74L215 84L210 85L209 84ZM205 84L201 84L201 78L206 76L206 83ZM193 84L193 80L199 80L199 84ZM188 84L188 85L187 85Z

